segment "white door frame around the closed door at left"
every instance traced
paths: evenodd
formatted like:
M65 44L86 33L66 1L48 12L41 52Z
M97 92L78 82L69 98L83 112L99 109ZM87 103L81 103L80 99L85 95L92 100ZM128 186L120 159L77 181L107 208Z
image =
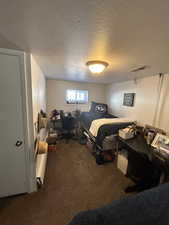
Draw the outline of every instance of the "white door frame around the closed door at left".
M32 108L32 80L30 54L20 50L0 48L0 54L19 57L21 99L23 116L23 136L26 167L26 192L31 193L37 190L36 185L36 163L34 154L33 138L33 108Z

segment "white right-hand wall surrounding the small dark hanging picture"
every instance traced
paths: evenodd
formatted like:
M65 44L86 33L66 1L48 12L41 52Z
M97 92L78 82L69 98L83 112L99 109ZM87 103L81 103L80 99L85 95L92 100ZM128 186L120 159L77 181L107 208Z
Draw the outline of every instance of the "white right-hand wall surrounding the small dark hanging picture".
M107 86L106 98L110 111L120 117L129 117L141 124L153 125L157 96L159 76L151 76L134 81L114 83ZM164 76L162 98L160 99L161 109L159 121L156 126L169 131L169 76ZM136 93L134 107L123 106L124 93ZM165 97L165 98L164 98Z

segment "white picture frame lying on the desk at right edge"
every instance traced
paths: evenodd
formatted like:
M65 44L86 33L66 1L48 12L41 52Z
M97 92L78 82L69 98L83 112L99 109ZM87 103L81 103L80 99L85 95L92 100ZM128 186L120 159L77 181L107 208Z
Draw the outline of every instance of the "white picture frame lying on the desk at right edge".
M154 148L161 148L161 147L165 148L165 146L166 146L166 149L168 149L169 148L169 137L166 135L157 133L151 146Z

